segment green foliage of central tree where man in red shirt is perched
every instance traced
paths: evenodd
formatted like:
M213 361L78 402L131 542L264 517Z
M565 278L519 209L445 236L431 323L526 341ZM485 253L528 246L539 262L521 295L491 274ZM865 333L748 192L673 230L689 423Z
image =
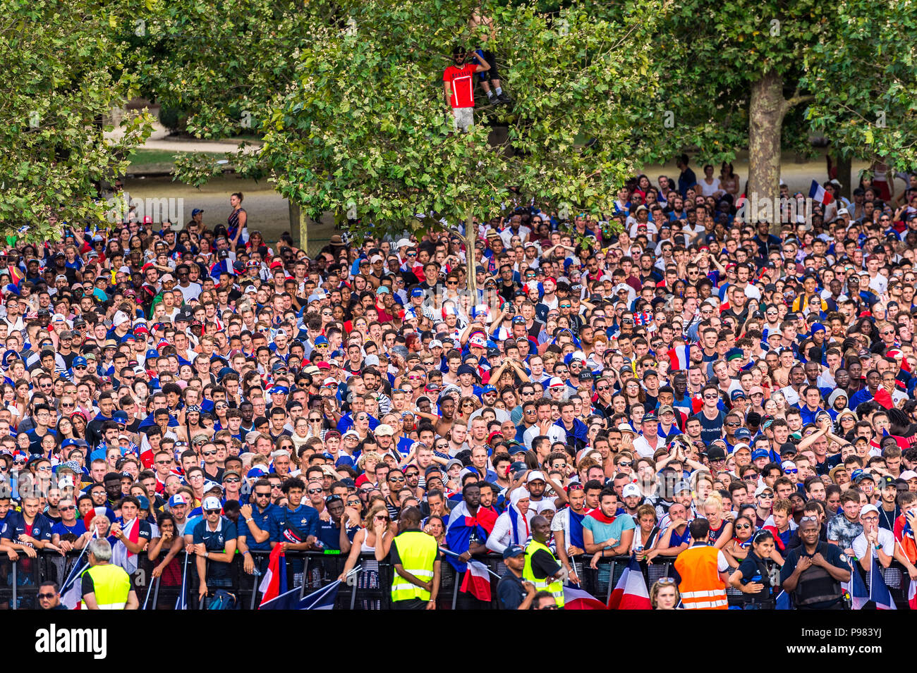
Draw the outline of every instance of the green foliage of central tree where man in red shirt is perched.
M316 25L264 126L260 158L281 193L312 216L356 213L358 233L486 221L509 187L525 203L610 212L655 95L646 37L657 10L485 7L515 103L480 110L471 133L455 134L442 71L454 44L477 44L467 25L476 6L349 2L343 26ZM511 147L488 145L489 122L505 125Z

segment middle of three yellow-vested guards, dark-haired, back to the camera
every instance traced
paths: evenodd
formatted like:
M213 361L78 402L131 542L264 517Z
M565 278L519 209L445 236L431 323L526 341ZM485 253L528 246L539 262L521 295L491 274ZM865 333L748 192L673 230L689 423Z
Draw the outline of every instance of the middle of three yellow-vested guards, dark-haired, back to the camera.
M392 610L436 610L439 593L440 554L436 537L420 529L422 515L405 507L392 541Z

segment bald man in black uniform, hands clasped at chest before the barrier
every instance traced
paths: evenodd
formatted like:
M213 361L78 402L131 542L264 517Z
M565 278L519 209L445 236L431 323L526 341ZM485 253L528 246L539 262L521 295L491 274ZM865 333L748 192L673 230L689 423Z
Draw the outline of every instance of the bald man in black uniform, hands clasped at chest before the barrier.
M841 582L850 581L850 560L842 548L819 539L821 527L815 516L800 519L802 544L790 549L780 569L780 583L797 610L845 609Z

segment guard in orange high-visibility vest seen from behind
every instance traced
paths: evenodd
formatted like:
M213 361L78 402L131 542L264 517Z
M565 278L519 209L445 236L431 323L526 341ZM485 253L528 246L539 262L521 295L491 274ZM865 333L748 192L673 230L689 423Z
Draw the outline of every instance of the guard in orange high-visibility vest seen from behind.
M722 551L711 547L707 519L691 521L691 539L691 547L682 551L674 564L681 604L686 610L728 610L729 562Z

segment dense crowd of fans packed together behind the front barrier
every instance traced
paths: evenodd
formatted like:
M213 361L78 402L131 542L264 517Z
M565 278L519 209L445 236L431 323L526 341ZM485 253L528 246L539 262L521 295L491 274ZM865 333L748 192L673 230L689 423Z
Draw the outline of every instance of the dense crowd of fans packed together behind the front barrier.
M503 607L560 606L610 557L673 561L659 608L726 587L840 608L873 563L904 592L917 189L895 207L827 182L834 201L774 227L735 218L731 167L679 165L601 219L511 205L474 249L336 235L308 255L265 242L241 194L226 224L7 244L0 554L105 538L174 584L188 552L204 597L277 545L339 551L370 586L432 537L459 573L500 555ZM438 577L392 598L429 607Z

